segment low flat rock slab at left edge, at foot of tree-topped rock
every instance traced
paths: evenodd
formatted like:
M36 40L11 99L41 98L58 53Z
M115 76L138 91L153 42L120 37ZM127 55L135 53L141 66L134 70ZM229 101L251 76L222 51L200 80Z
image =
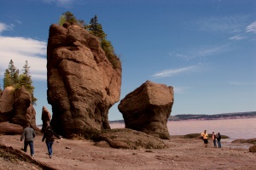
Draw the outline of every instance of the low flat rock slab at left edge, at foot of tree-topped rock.
M18 124L10 123L10 122L0 122L0 134L21 134L23 131L23 127Z

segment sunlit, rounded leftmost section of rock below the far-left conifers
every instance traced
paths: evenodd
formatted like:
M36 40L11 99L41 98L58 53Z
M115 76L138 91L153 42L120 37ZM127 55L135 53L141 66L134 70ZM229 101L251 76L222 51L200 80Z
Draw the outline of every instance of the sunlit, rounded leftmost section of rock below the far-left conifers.
M7 87L3 89L0 96L0 122L8 122L12 116L13 105L15 102L15 88Z

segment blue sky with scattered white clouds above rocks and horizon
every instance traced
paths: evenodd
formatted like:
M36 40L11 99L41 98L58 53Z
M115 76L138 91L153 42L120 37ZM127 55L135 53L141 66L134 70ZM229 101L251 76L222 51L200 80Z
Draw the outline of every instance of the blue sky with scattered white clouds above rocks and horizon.
M0 0L0 83L9 60L31 69L37 123L47 102L49 26L96 14L122 61L121 97L147 80L174 88L172 115L256 111L254 0ZM109 120L123 119L116 105Z

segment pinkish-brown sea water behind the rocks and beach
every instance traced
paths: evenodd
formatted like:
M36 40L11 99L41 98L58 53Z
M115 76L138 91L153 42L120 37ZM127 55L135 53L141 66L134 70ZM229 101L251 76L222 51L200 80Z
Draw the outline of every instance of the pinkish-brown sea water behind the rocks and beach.
M110 123L111 128L124 128L124 123ZM256 118L222 119L222 120L189 120L167 122L170 135L189 133L220 133L230 139L256 138Z

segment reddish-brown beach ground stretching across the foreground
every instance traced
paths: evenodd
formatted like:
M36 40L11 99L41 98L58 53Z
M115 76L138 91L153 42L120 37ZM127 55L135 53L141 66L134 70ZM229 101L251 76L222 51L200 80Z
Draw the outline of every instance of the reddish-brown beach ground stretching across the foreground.
M42 135L34 141L35 161L55 169L256 169L256 154L249 152L249 144L230 144L223 139L223 148L207 148L201 139L172 136L165 140L164 150L121 150L95 146L88 140L55 139L53 157L49 159ZM20 150L20 135L2 135L0 143ZM29 155L29 150L27 155ZM0 169L40 169L26 161L10 161L0 156ZM41 168L42 169L42 168Z

